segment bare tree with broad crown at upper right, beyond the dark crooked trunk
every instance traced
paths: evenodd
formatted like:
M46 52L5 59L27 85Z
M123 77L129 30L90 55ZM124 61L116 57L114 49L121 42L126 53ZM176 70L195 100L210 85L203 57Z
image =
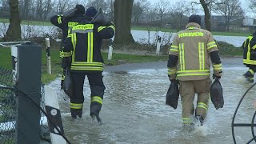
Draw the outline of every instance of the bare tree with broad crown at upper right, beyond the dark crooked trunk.
M225 18L226 31L230 31L230 22L232 18L242 18L244 12L239 0L220 0L220 3L216 4L215 12L222 14Z

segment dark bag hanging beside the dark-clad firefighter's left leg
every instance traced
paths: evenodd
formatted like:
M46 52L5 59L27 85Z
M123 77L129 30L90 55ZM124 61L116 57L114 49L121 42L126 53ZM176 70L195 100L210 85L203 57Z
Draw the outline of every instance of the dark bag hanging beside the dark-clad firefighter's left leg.
M63 81L63 90L64 92L71 98L72 97L72 91L73 91L73 86L72 86L72 81L70 78L70 69L66 69L66 75Z

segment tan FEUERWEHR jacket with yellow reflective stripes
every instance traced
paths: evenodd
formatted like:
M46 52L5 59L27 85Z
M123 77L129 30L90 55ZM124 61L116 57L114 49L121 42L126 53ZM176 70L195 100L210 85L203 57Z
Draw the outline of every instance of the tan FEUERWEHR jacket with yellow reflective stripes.
M177 78L181 81L201 80L210 77L210 52L218 50L212 34L194 22L179 31L170 46L169 54L178 56ZM169 68L170 70L171 68ZM174 68L172 68L174 69ZM221 70L221 64L214 66Z

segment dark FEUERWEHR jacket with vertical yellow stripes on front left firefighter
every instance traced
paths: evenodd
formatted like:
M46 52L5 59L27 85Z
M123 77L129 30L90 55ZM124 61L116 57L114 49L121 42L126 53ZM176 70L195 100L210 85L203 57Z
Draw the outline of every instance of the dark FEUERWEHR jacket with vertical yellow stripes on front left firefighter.
M103 70L102 39L114 36L114 26L100 26L85 18L73 26L64 42L64 58L70 58L71 71Z

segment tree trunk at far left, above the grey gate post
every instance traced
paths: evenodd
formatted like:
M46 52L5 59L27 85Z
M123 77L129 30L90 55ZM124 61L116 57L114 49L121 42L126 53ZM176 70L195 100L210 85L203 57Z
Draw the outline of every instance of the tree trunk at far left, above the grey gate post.
M10 0L10 25L6 32L4 41L18 41L22 39L21 20L19 18L18 0Z

